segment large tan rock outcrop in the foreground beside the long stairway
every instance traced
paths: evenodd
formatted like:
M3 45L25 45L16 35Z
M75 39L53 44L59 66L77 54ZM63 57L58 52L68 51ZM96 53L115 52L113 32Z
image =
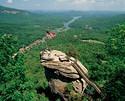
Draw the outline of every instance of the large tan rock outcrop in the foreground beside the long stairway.
M65 92L69 83L72 84L74 92L79 94L84 92L87 83L72 65L76 61L73 57L68 57L61 51L45 50L40 52L40 59L53 93L59 94L66 100ZM85 75L88 75L88 70L81 62L77 60L76 63L84 71Z

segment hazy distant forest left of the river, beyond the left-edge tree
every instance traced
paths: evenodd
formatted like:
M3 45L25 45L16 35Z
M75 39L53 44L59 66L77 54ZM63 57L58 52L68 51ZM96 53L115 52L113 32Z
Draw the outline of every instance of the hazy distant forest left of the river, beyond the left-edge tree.
M0 6L0 10L1 8ZM9 8L4 9L12 10ZM60 16L53 13L40 15L20 10L15 11L21 13L0 13L0 34L16 35L20 39L18 41L19 47L24 47L34 40L42 38L46 30L62 27L63 23L71 18L70 16Z

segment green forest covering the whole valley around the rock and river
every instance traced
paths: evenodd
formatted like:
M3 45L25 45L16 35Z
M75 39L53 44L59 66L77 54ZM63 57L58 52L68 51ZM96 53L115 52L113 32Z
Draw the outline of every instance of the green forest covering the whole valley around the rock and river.
M0 6L0 11L10 8ZM16 9L14 9L16 10ZM60 50L81 61L89 78L103 95L88 86L85 92L93 101L125 101L125 13L124 12L0 12L0 101L51 101L40 51L46 44L34 46L12 56L19 48L42 39L46 31L63 28L64 23L81 16L47 40L49 49ZM55 101L61 101L57 97ZM80 101L79 97L71 101ZM82 101L90 101L83 97Z

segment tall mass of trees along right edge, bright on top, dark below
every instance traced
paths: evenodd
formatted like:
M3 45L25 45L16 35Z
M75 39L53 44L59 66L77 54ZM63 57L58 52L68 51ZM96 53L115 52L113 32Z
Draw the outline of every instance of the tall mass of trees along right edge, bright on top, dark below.
M105 100L125 100L125 25L117 25L111 31L107 50L110 55L108 64L112 73L104 85Z

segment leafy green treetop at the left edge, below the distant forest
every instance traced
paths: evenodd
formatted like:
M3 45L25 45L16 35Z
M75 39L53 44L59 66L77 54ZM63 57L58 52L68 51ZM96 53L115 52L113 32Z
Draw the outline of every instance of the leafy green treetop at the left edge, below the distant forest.
M0 65L6 66L12 62L12 55L17 51L16 37L12 35L3 35L0 37Z

